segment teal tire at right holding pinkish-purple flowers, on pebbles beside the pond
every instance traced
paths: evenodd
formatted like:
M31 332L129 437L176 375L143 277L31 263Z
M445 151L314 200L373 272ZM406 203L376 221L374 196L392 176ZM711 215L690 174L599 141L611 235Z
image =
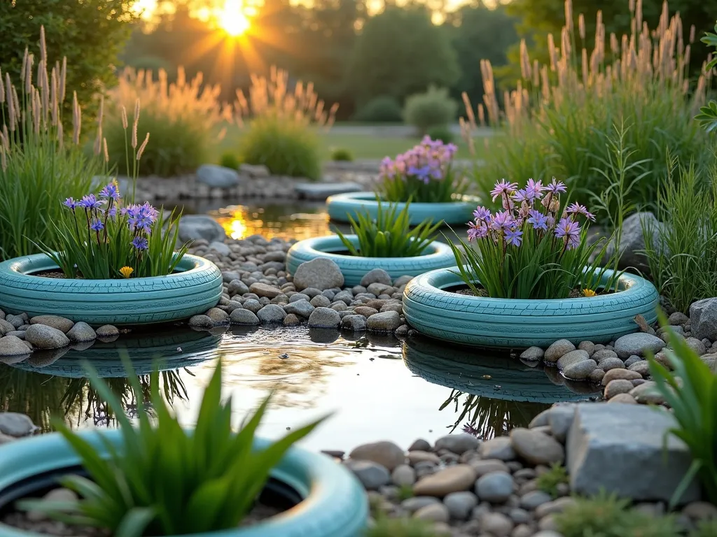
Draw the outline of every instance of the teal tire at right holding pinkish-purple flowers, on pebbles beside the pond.
M481 347L547 347L557 339L607 343L637 331L635 316L657 319L657 290L633 274L619 279L621 291L592 298L508 300L456 294L457 267L423 274L404 289L404 315L422 334ZM607 271L606 278L612 274Z

